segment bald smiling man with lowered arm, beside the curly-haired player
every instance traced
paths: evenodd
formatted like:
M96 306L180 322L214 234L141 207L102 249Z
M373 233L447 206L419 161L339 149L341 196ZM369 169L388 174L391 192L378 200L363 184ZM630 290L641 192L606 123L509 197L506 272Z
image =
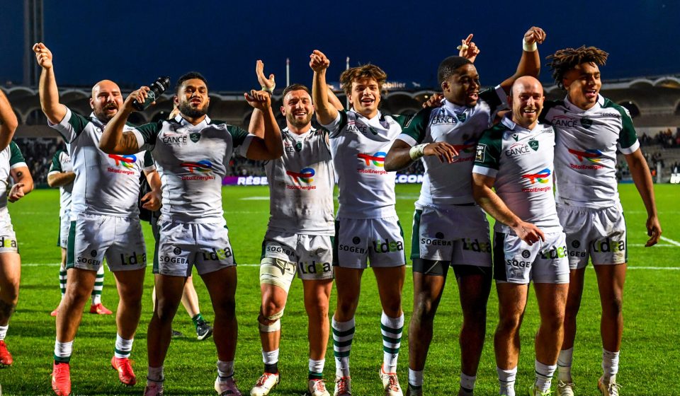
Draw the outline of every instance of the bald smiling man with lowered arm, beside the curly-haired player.
M569 262L553 196L555 131L538 122L544 99L536 78L518 78L509 96L511 114L482 134L472 168L475 201L496 219L494 278L500 312L494 349L501 395L515 394L519 328L531 281L540 328L530 395L550 393L562 345Z

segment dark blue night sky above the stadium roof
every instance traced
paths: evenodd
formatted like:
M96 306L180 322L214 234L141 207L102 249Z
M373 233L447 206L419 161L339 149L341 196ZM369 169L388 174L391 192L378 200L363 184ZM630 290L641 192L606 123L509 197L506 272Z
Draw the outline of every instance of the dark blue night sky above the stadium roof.
M285 85L311 83L309 54L331 59L329 81L351 65L381 66L390 81L436 83L438 62L467 33L482 50L482 84L514 72L531 25L548 33L542 57L594 45L611 55L603 78L680 74L680 5L664 1L55 1L45 0L45 42L61 86L110 78L121 86L203 73L210 88L256 85L254 64ZM341 6L340 6L341 5ZM23 78L23 1L0 0L0 82ZM544 62L545 63L545 62ZM541 80L550 82L545 67Z

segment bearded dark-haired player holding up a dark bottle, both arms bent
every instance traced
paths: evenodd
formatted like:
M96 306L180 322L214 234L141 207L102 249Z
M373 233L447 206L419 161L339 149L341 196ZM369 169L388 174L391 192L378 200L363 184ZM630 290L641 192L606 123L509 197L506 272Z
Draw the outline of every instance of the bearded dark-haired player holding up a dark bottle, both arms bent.
M200 74L191 72L177 81L174 103L179 108L178 116L126 131L125 122L134 111L133 101L144 102L148 91L148 87L142 87L130 94L100 141L103 151L119 155L148 148L154 153L163 180L158 259L154 262L157 303L147 337L149 372L145 395L163 394L163 362L170 344L172 319L194 265L215 310L215 390L220 395L241 395L234 381L238 331L236 262L222 211L222 177L233 151L253 160L273 160L282 155L270 94L244 94L251 106L262 110L264 134L260 138L239 127L210 120L206 115L210 105L208 83Z

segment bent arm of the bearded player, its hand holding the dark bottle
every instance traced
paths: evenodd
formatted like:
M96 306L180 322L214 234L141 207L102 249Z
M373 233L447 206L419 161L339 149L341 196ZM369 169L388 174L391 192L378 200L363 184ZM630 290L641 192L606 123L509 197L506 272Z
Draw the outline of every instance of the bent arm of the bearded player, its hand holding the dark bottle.
M140 146L137 143L137 136L132 132L123 132L125 122L128 122L128 117L135 111L132 103L137 99L139 103L144 103L147 100L149 87L143 86L137 91L130 93L123 108L118 110L111 121L106 124L104 132L99 139L99 148L107 154L136 154L140 152Z

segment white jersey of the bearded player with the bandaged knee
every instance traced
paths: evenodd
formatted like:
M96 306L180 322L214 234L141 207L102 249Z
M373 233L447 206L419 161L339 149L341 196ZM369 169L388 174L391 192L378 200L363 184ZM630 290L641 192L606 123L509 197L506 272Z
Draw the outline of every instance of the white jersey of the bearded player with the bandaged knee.
M283 156L264 165L269 183L270 230L335 235L335 173L326 129L281 131Z

